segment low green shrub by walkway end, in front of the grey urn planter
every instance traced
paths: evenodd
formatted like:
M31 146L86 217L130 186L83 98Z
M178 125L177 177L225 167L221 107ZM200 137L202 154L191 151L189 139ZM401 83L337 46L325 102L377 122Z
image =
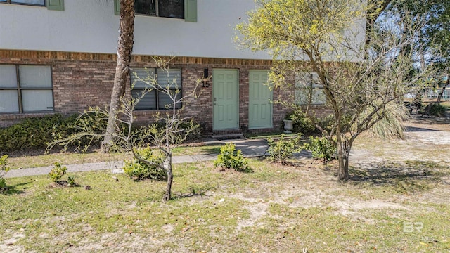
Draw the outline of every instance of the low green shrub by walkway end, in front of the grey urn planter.
M285 139L284 134L278 141L274 141L273 138L267 138L267 143L269 144L269 160L272 162L285 163L286 160L291 157L294 153L300 152L302 148L297 147L300 143L302 134L297 134L296 138Z

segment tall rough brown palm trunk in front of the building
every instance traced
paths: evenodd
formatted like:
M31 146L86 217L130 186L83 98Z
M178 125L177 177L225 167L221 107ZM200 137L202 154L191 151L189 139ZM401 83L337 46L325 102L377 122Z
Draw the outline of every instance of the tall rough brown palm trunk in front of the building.
M120 98L124 96L127 84L129 63L134 43L134 0L120 1L119 22L120 35L117 43L117 65L115 67L113 93L111 94L108 126L101 145L103 152L108 152L110 145L114 141L113 134L117 131L117 110L120 108Z

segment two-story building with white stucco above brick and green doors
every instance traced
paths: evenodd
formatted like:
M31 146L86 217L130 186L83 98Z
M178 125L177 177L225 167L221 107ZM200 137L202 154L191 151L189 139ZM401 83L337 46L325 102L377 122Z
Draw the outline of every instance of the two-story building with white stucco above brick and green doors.
M283 91L266 84L269 54L238 49L236 24L254 0L136 0L132 71L155 73L152 56L176 56L171 73L182 93L197 79L202 94L186 116L207 131L278 129ZM71 114L110 103L115 76L119 0L0 0L0 126L26 117ZM134 74L129 75L129 84ZM131 86L127 93L139 93ZM154 90L137 105L150 122L167 98Z

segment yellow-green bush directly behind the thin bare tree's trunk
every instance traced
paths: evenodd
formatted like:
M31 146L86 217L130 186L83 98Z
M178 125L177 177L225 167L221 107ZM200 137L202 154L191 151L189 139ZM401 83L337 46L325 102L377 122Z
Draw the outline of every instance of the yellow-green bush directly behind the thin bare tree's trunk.
M144 160L147 160L153 164L162 164L164 157L158 155L150 148L143 148L136 151ZM127 174L130 179L136 179L137 181L143 179L163 180L166 179L167 174L164 170L160 169L156 165L148 165L134 158L134 160L124 161L124 173Z

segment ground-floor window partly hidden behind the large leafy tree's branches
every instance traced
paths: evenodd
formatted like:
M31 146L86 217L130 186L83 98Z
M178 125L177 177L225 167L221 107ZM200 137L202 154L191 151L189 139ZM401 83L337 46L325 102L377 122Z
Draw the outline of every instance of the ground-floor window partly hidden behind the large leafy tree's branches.
M297 104L306 105L309 101L312 105L326 103L326 96L318 79L317 73L314 72L297 75L295 79L295 100Z

